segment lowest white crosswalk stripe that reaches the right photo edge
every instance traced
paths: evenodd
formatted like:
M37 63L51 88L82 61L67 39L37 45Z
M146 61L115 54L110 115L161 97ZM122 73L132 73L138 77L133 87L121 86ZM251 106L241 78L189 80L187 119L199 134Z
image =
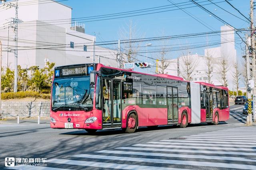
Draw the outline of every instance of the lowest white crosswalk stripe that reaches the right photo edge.
M105 156L105 155L92 155L92 154L79 154L74 155L80 158L94 158L104 160L124 160L124 161L135 161L135 162L152 162L159 164L178 164L178 165L192 165L192 166L209 166L209 167L221 167L221 168L237 168L237 169L248 169L255 170L256 166L246 164L228 164L218 162L200 162L200 161L188 161L188 160L166 160L166 159L152 159L152 158L134 158L134 157L123 157L123 156Z

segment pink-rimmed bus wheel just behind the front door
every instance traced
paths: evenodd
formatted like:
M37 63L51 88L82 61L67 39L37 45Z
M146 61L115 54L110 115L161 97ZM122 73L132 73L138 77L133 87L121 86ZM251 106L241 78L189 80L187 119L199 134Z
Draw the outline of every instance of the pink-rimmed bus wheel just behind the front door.
M133 133L138 128L138 116L136 111L130 111L127 114L126 133Z

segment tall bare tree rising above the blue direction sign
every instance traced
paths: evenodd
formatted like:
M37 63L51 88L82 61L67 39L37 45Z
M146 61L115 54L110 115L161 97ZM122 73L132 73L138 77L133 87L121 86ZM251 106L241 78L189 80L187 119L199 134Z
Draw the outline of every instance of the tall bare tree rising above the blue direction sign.
M128 30L127 30L128 28ZM143 38L143 36L138 35L138 30L136 30L136 24L132 23L130 20L126 27L120 29L119 37L121 40L125 40L122 43L122 53L120 55L120 63L132 63L137 60L137 51L140 49L140 42L132 42L133 39Z

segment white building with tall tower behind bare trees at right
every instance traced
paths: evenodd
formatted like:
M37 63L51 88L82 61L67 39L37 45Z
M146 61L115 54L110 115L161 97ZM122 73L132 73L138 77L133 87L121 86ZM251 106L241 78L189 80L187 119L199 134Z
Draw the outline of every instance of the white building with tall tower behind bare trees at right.
M226 31L227 30L227 31ZM234 40L234 30L230 26L221 27L221 45L220 47L208 48L204 50L204 55L191 54L189 51L184 56L179 57L179 66L180 66L180 77L184 73L184 59L188 57L194 62L194 71L191 74L192 81L204 81L208 83L208 76L206 74L207 67L207 56L211 57L211 62L213 65L213 73L211 77L211 82L214 85L223 85L221 79L221 65L220 61L224 57L227 60L227 84L228 88L232 90L233 88L233 75L234 75L234 63L236 62L236 49L235 49L235 40ZM177 59L171 59L170 65L168 66L168 74L178 75ZM235 88L235 85L234 85Z

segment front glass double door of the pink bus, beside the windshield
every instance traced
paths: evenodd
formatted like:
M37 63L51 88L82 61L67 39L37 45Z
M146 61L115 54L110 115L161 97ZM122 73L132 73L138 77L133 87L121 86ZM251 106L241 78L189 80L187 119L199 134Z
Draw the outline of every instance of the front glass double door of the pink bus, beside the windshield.
M103 79L103 110L102 128L121 127L121 81L113 79Z

